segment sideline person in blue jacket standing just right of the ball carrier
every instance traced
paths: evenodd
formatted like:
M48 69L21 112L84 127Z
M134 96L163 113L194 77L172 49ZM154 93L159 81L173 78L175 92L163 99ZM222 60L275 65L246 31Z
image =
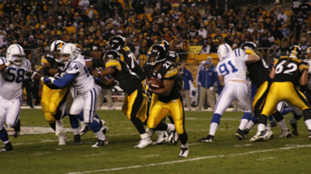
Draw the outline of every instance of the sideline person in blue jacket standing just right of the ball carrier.
M190 101L190 86L193 82L193 77L191 72L186 68L186 63L181 63L180 69L179 69L180 74L183 76L183 98L186 103L186 107L188 107L189 110L191 110L191 101Z

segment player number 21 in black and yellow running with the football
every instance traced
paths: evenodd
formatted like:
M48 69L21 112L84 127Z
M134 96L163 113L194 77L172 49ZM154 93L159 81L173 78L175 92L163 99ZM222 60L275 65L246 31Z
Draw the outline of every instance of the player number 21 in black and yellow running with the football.
M147 127L160 131L175 132L181 142L179 157L187 157L189 154L188 135L184 128L182 86L179 80L176 80L177 67L175 63L166 60L166 51L163 46L153 45L149 52L148 69L152 73L148 74L148 76L160 79L164 87L151 89L149 88L151 83L146 86L148 93L158 96L157 100L151 104ZM173 118L175 125L162 122L168 114ZM175 133L173 133L174 136Z

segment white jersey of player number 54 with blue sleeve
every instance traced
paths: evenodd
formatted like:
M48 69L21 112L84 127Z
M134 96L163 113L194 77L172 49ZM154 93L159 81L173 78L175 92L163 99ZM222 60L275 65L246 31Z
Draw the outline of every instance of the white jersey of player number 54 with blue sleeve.
M65 66L67 74L78 74L72 81L78 93L83 94L94 88L94 79L87 71L85 60L81 54L78 54L76 59L68 62Z

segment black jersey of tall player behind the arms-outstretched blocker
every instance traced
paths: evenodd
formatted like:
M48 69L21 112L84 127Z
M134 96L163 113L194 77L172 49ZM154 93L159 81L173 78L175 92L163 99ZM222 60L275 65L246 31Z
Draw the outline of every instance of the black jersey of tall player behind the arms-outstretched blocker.
M132 53L128 46L123 47L122 49L117 50L120 54L120 59L128 64L128 67L132 72L136 73L140 80L146 78L145 72L142 70L142 67L137 63L135 55Z

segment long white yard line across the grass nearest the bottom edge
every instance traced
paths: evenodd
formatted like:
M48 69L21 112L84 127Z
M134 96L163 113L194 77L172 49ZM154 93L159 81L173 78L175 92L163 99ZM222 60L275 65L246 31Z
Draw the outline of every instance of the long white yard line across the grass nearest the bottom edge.
M202 156L202 157L197 157L197 158L175 160L175 161L167 161L167 162L163 162L163 163L151 163L151 164L145 164L145 165L107 168L107 169L99 169L99 170L84 171L84 172L70 172L70 173L67 173L67 174L81 174L81 173L118 171L118 170L123 170L123 169L159 166L159 165L165 165L165 164L183 163L183 162L187 162L187 161L197 161L197 160L201 160L201 159L222 158L222 157L225 157L225 156L227 156L227 157L234 157L234 156L242 156L242 155L262 153L262 152L271 152L271 151L277 151L277 150L289 150L289 149L296 149L296 148L301 148L301 147L311 147L311 144L309 144L309 145L291 146L291 147L281 147L281 148L277 148L277 149L256 150L256 151L249 151L249 152L237 153L237 154L222 154L222 155Z

